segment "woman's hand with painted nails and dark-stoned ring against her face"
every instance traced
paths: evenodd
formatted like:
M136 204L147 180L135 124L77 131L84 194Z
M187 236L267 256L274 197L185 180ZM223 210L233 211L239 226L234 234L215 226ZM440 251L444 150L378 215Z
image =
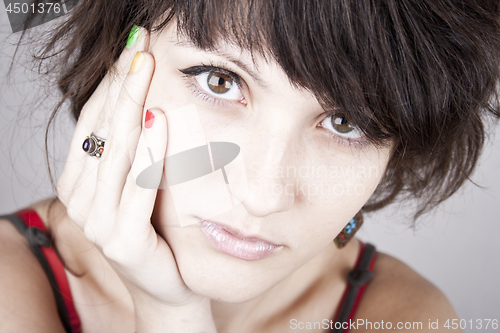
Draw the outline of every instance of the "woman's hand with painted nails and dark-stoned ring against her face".
M154 304L151 308L194 306L198 311L208 304L209 311L207 299L186 287L172 251L151 225L157 190L137 186L131 172L134 166L150 164L148 147L158 161L164 160L167 146L163 112L150 109L153 126L141 125L155 62L144 51L149 35L140 31L137 44L123 51L114 71L107 73L83 107L57 193L68 216L119 274L136 306L138 302ZM141 52L136 55L137 51ZM134 56L135 72L130 67ZM101 159L82 150L91 132L106 140ZM158 183L161 176L157 175Z

